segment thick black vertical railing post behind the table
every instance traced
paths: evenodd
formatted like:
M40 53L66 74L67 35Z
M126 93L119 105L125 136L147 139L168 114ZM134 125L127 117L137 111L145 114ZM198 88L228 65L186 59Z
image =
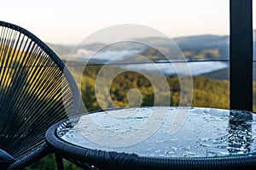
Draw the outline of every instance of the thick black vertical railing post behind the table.
M230 0L230 108L253 110L252 0Z

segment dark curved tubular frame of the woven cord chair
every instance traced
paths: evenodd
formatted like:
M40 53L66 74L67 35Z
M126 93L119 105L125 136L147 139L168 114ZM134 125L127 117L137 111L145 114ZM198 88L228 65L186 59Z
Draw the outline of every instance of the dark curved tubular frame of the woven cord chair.
M53 52L51 48L49 48L44 42L42 42L38 37L33 35L30 31L27 31L26 29L16 26L14 24L10 24L8 22L4 22L0 20L0 26L9 28L14 31L18 31L20 34L25 35L28 37L32 42L35 42L39 48L42 48L45 52L45 54L48 54L49 57L55 62L55 64L61 69L62 74L65 75L67 78L67 82L72 89L73 93L73 109L71 111L71 116L76 115L79 113L80 110L80 104L81 104L81 97L79 93L79 88L77 86L77 83L75 82L71 72L67 69L67 66L63 63L63 61ZM54 124L55 122L52 122ZM33 162L40 160L44 156L47 156L49 153L52 153L52 151L49 149L48 145L42 141L41 146L38 148L38 145L35 145L35 148L38 148L37 150L30 153L28 156L24 156L21 159L15 161L13 164L11 164L9 167L7 167L8 170L13 169L22 169L25 167L28 167L32 165ZM57 156L56 161L58 165L58 169L63 169L63 165L61 164L61 157Z

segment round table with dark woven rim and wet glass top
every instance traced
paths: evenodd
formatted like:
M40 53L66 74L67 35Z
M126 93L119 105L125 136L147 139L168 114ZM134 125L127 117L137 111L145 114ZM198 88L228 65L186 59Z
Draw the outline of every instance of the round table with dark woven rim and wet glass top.
M113 109L59 122L46 139L84 168L253 169L255 118L213 108Z

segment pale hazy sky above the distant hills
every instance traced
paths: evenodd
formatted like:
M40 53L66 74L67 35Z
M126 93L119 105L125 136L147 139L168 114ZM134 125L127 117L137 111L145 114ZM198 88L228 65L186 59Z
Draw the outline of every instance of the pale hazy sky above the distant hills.
M79 43L95 31L118 24L149 26L168 37L226 35L230 29L229 1L5 0L0 20L32 31L44 42L62 44Z

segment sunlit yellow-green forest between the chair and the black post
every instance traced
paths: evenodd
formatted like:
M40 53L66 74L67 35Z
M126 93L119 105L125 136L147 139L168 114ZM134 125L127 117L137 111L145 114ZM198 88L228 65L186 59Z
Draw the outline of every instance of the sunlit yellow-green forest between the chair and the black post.
M162 96L167 96L168 93L163 91L165 89L155 89L158 87L164 87L165 81L160 80L160 77L156 75L141 74L133 71L125 71L116 76L111 82L110 93L108 91L108 80L101 79L102 85L99 87L106 88L102 90L101 95L95 95L95 81L96 74L100 71L101 66L90 66L86 67L84 76L82 77L82 96L84 104L89 111L96 111L101 108L98 104L104 108L119 106L125 107L129 105L127 94L129 90L136 88L142 94L142 105L149 106L154 105L154 91L160 93ZM113 68L112 70L119 70ZM108 74L112 74L111 68L108 69ZM151 80L157 80L158 87L154 87L147 77L151 77ZM162 78L162 77L161 77ZM171 93L172 106L179 105L180 100L180 85L177 77L166 77L168 86ZM194 89L193 89L193 102L192 106L200 107L218 107L218 108L229 108L230 105L230 90L229 82L224 80L213 80L206 77L194 77ZM113 104L108 99L110 94ZM189 96L184 96L189 98ZM156 105L161 105L157 103ZM189 104L188 104L189 105Z

